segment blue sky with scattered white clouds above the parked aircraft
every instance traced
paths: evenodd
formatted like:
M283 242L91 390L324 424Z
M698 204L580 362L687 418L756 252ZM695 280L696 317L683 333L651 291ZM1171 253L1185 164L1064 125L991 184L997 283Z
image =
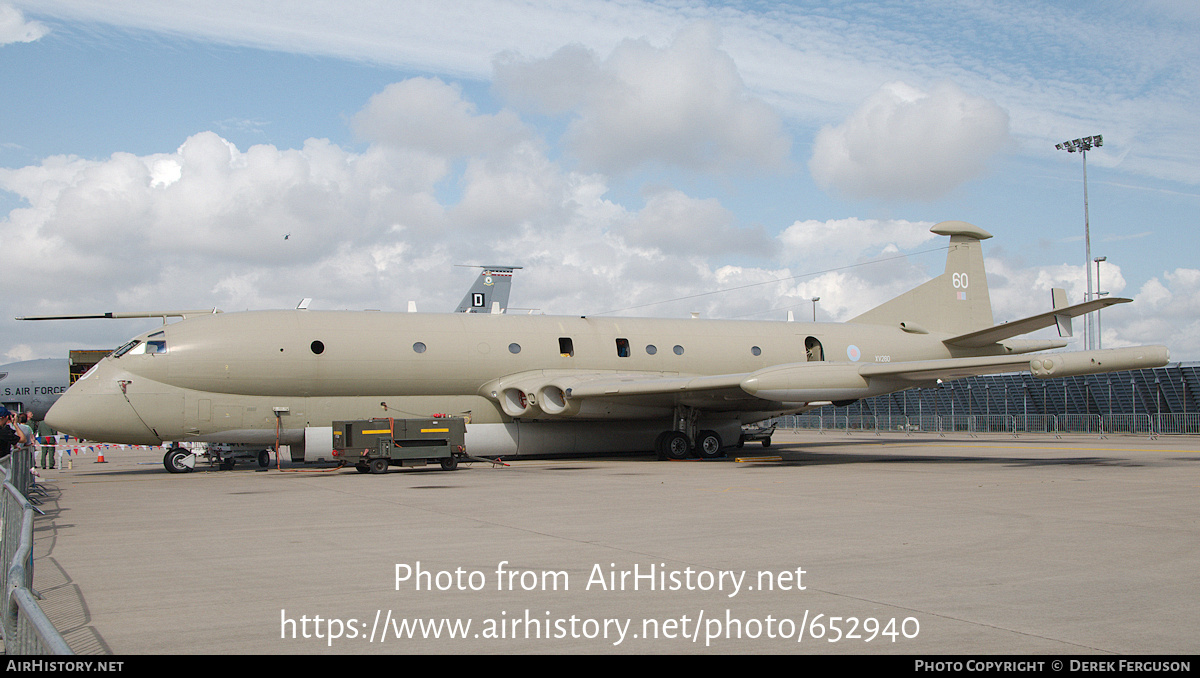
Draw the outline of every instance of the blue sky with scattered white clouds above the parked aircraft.
M546 313L845 320L940 272L943 220L995 235L1015 319L1082 298L1054 144L1103 134L1092 256L1135 300L1104 344L1196 360L1198 29L1194 2L0 0L0 358L144 329L25 314L449 310L454 264L524 266L512 305Z

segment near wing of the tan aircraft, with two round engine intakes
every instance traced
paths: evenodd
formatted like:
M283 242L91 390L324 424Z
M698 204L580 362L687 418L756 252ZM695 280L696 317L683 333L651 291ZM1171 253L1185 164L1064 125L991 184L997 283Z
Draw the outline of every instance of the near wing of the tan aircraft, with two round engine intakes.
M692 404L700 408L737 409L739 401L766 400L787 403L847 401L882 395L913 382L950 380L977 374L1030 371L1039 378L1072 377L1117 370L1160 367L1170 360L1163 346L1139 346L1104 350L1044 353L1037 355L989 355L886 364L792 362L755 372L688 376L673 373L613 373L560 371L515 374L485 390L500 400L512 416L533 414L575 415L588 400L630 404ZM761 403L760 406L761 407Z

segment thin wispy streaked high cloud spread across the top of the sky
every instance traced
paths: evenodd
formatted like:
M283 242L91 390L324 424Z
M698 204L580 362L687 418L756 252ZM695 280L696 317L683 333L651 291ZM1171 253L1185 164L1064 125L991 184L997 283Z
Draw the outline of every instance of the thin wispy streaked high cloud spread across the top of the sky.
M1031 158L1096 130L1112 151L1097 152L1097 164L1140 178L1200 181L1200 142L1192 133L1200 41L1186 1L1124 4L1117 12L971 0L928 6L458 0L344 2L336 12L326 0L12 1L65 22L476 80L490 76L496 54L515 46L545 55L570 36L584 52L608 54L628 36L661 44L680 26L707 20L721 26L722 49L738 64L748 91L804 126L844 116L883 82L928 88L948 79L998 102ZM548 74L542 77L548 83Z

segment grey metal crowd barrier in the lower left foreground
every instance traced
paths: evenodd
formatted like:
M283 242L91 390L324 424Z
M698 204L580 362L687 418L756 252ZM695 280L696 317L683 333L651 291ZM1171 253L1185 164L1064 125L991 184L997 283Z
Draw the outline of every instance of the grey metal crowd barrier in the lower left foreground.
M74 654L42 612L34 592L34 512L29 492L32 450L16 450L0 461L0 558L7 566L4 607L5 654Z

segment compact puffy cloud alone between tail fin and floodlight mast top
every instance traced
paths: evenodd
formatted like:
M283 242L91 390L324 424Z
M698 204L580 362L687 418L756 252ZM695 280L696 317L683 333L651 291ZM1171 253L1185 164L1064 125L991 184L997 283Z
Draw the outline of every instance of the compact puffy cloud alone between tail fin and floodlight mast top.
M817 133L809 169L851 198L931 200L983 174L1009 143L1008 114L953 84L888 83L845 122Z

